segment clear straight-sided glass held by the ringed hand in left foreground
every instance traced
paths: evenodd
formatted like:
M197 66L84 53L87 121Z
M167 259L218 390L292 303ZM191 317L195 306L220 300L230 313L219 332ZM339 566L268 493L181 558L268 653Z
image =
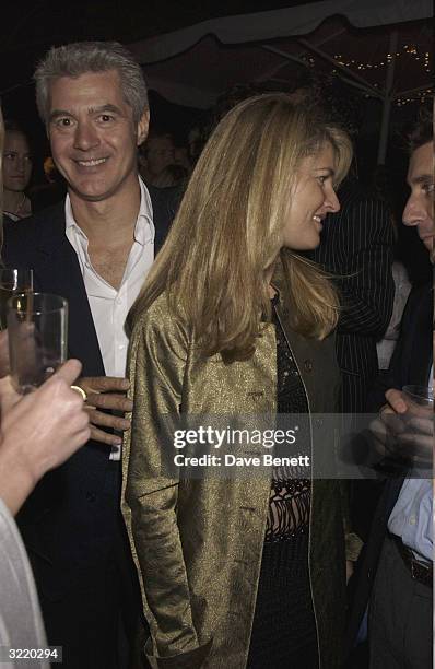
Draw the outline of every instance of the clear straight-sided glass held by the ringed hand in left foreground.
M8 332L12 383L25 395L67 359L67 301L48 293L13 295L8 302Z

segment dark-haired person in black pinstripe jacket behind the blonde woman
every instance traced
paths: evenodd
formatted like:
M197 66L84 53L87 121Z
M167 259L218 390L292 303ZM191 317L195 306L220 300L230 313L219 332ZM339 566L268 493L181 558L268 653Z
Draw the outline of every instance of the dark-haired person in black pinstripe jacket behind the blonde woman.
M337 78L305 72L292 94L295 102L314 97L331 124L356 137L361 105ZM337 332L337 359L342 373L340 410L363 413L369 388L378 375L376 342L392 314L393 227L386 202L366 192L354 177L339 190L341 210L324 221L320 246L308 254L337 278L342 313ZM368 533L378 486L356 481L350 486L352 524L363 538Z

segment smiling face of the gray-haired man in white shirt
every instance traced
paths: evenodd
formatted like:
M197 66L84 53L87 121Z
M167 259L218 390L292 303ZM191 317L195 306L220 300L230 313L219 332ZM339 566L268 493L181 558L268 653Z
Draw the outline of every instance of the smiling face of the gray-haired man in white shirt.
M137 146L146 136L148 118L146 113L136 126L115 70L54 80L48 133L70 191L102 201L137 187Z

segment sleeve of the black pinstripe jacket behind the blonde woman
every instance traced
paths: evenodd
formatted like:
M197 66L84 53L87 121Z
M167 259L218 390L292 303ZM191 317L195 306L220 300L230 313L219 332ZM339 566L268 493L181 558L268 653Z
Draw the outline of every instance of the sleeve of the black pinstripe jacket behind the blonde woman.
M341 216L345 267L339 280L343 310L341 332L380 339L392 314L393 233L390 212L381 200L363 199L349 206Z

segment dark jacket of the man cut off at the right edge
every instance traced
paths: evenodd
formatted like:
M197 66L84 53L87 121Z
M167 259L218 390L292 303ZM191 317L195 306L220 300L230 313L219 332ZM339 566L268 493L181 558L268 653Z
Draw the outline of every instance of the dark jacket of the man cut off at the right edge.
M403 313L401 336L391 359L387 378L380 377L369 397L372 411L385 404L388 388L427 384L433 361L432 351L433 291L425 285L411 292ZM348 653L354 646L361 621L367 608L380 550L387 532L388 518L397 502L403 477L385 484L374 517L371 536L361 555L357 583L346 636Z

